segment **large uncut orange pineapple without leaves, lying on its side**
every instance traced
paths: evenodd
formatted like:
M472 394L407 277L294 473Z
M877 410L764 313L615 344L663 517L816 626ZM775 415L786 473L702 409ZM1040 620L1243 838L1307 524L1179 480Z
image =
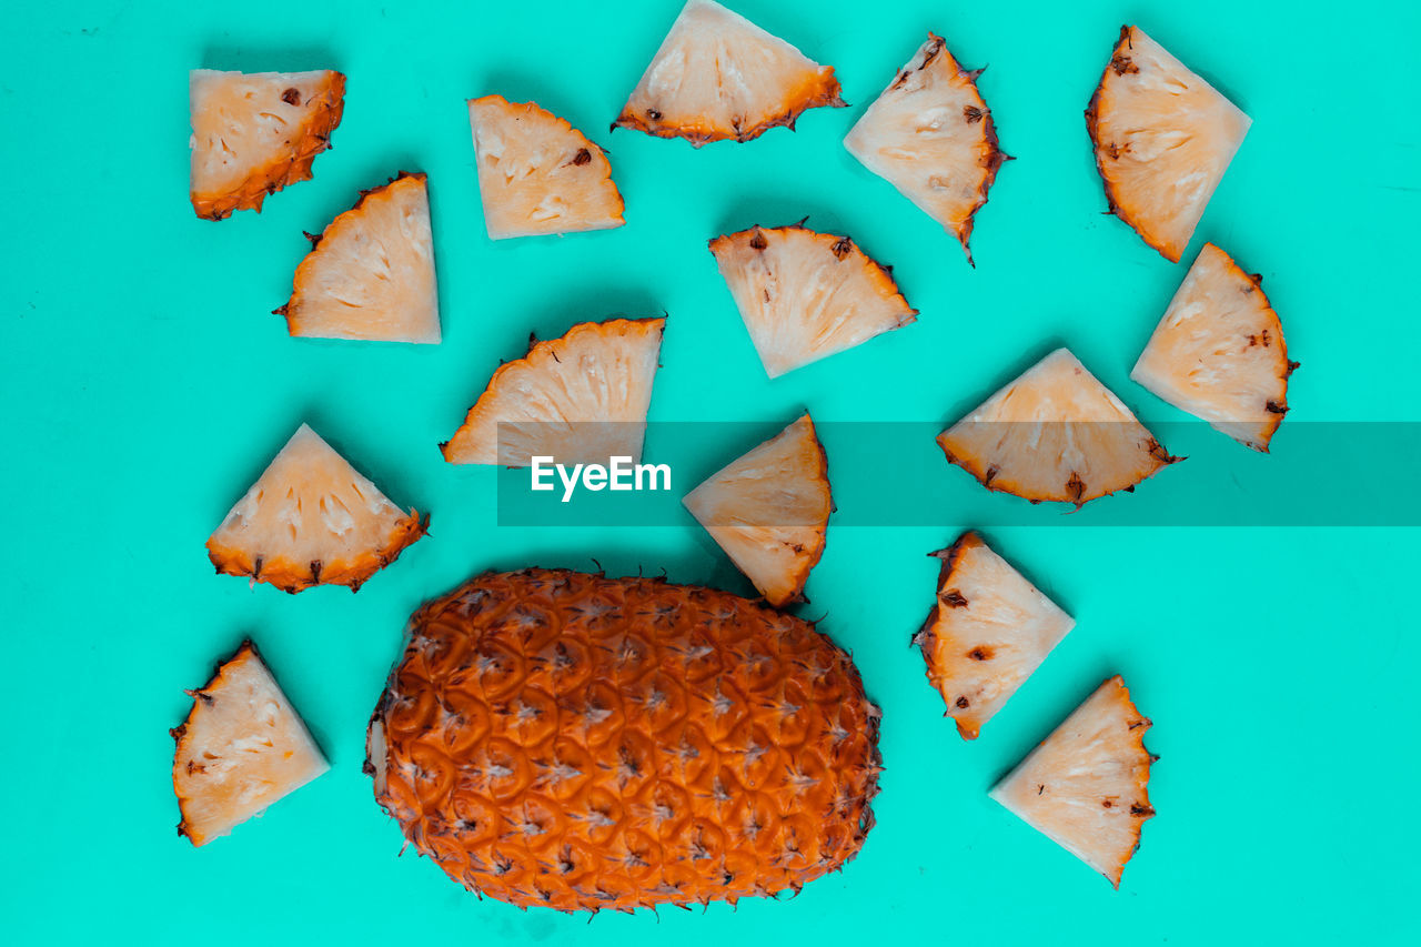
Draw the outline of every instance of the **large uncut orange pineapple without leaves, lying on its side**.
M806 621L713 589L527 569L415 613L367 769L470 890L560 910L735 903L858 853L878 717Z

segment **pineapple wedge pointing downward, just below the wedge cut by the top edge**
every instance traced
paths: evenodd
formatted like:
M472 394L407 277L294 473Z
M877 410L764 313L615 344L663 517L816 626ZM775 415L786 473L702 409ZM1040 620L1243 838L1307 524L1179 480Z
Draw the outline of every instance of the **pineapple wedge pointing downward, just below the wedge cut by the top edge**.
M770 378L918 317L888 269L845 236L755 226L710 240L710 252Z

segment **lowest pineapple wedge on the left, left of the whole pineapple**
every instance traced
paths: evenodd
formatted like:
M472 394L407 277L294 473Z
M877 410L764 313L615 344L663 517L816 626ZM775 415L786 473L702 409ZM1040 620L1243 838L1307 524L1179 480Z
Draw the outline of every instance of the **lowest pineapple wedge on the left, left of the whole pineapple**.
M192 695L172 731L178 833L206 845L330 769L252 641Z

